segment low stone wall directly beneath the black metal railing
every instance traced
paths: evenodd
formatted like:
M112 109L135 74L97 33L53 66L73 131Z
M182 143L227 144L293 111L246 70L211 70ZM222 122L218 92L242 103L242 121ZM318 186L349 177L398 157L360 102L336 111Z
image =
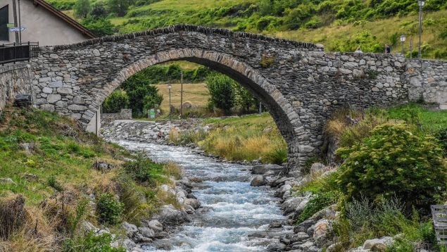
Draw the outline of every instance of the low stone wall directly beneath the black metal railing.
M0 65L0 111L12 104L17 94L32 94L27 63Z

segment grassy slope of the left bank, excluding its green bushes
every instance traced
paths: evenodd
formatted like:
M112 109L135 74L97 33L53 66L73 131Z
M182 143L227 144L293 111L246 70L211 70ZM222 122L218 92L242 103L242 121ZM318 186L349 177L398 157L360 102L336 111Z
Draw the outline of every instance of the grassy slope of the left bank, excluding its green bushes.
M32 146L29 151L24 144ZM61 229L79 202L91 194L118 195L125 204L120 220L135 224L163 204L178 206L174 196L158 190L159 184L173 183L169 176L178 178L175 165L150 163L153 180L140 183L122 168L127 157L134 158L120 146L85 133L73 120L44 111L6 108L0 116L0 208L3 201L21 194L28 215L17 234L8 240L0 237L0 251L60 251L61 238L70 235ZM96 161L109 163L113 169L96 170L92 168ZM5 178L13 183L4 182ZM98 225L95 212L90 208L87 212L82 218ZM0 223L1 213L0 209ZM34 227L36 221L39 225ZM120 232L120 225L112 228Z

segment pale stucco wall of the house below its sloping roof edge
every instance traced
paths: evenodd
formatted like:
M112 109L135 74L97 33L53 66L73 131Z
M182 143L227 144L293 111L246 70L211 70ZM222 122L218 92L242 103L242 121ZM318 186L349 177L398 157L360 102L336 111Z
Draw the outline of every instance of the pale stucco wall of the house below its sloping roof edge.
M16 0L16 4L18 4L18 0ZM14 23L13 2L0 0L0 8L6 5L9 5L9 23ZM30 0L20 0L20 15L21 25L25 27L22 32L22 42L39 42L40 46L50 46L73 44L88 39L80 30L65 23L42 6L34 6ZM9 33L9 42L15 42L14 32Z

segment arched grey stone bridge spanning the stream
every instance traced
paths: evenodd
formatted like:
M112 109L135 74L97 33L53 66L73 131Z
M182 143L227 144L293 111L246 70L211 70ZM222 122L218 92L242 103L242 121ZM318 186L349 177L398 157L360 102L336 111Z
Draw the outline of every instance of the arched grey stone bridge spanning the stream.
M191 61L240 82L268 108L302 165L322 145L329 115L343 106L408 101L405 58L325 53L322 46L193 25L42 48L33 63L34 101L87 125L104 99L140 70Z

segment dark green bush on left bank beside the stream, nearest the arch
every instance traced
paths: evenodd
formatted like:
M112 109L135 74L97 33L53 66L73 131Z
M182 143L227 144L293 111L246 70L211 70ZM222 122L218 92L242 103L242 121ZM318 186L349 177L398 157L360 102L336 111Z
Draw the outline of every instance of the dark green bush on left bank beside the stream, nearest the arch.
M135 160L128 161L123 167L127 174L137 182L149 182L151 179L158 177L163 171L163 165L153 163L143 153L138 153Z

